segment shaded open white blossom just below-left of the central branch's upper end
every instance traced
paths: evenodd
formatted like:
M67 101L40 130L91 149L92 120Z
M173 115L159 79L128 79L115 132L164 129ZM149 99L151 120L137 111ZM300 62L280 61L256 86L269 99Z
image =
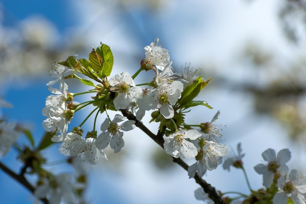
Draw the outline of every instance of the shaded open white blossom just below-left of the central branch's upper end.
M120 152L121 148L124 147L124 140L122 138L123 131L130 131L135 128L135 121L128 120L118 125L117 123L122 122L126 117L116 114L114 119L109 122L106 118L101 125L102 133L97 137L96 146L99 149L105 149L108 145L114 150L114 153Z

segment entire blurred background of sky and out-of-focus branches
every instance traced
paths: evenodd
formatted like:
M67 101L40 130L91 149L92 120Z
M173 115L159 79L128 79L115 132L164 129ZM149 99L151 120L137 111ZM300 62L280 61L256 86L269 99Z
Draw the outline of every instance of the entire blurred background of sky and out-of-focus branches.
M112 75L133 74L144 58L143 47L155 38L169 50L175 71L190 63L204 78L212 77L198 99L213 109L197 110L187 123L211 121L220 110L218 123L227 126L222 142L233 150L242 143L253 189L262 186L253 167L268 148L289 148L289 169L306 172L305 0L0 0L0 95L14 106L0 114L30 127L39 142L41 111L50 94L45 84L54 62L71 55L87 58L91 46L102 42L114 55ZM71 92L86 91L75 82L69 81ZM72 121L79 124L89 112ZM148 127L157 132L158 124ZM122 152L109 150L108 161L85 165L88 203L201 203L194 197L199 186L150 138L133 130L124 139ZM16 156L11 150L1 161L18 172ZM44 156L51 163L64 158L58 145ZM52 171L72 171L51 163L46 168ZM249 193L237 169L219 166L203 178L222 192ZM3 203L33 203L30 193L2 171L0 181Z

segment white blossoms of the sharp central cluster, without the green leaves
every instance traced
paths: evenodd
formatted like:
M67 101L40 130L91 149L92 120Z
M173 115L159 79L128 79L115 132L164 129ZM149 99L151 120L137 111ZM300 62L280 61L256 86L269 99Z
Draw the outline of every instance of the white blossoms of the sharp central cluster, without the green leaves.
M152 69L154 71L153 81L148 83L146 88L136 86L134 77L127 71L116 74L110 79L100 77L102 79L99 81L102 83L95 86L95 91L98 92L96 101L106 98L107 94L112 94L114 95L111 101L113 108L130 110L138 120L143 118L146 111L151 110L158 110L165 120L174 118L177 113L175 105L182 96L184 84L176 80L168 50L158 45L158 42L159 39L156 38L153 43L144 47L145 58L140 63L141 70ZM79 157L94 164L100 158L107 158L103 151L107 146L110 146L115 153L124 147L122 131L134 129L135 121L123 122L126 117L116 114L113 120L110 120L109 117L105 119L100 128L102 133L99 135L94 130L83 138L80 127L73 128L68 133L68 124L80 106L73 101L76 94L67 91L68 85L64 80L75 77L76 72L80 72L79 69L67 67L63 63L55 64L50 70L50 76L55 79L48 82L47 85L51 86L59 82L59 89L49 87L49 91L53 94L46 98L46 106L43 109L46 119L43 126L45 131L54 133L52 141L62 142L60 148L62 154ZM190 78L189 83L193 83L191 77L184 78ZM102 108L104 107L99 107L100 112ZM195 176L196 172L199 176L203 176L207 169L217 168L222 157L227 155L227 147L216 142L216 136L222 136L219 133L220 127L213 124L218 117L219 112L211 122L202 123L200 130L185 128L177 130L178 124L175 124L175 131L170 136L164 136L164 149L172 157L196 158L198 155L197 163L189 171L191 177ZM119 125L119 122L123 123Z

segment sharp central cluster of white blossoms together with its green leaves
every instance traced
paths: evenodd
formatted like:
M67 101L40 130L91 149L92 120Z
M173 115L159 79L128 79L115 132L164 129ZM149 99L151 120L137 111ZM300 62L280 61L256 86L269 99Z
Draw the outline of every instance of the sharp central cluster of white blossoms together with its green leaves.
M43 126L46 132L52 133L53 142L61 142L59 151L63 155L75 157L82 161L96 164L101 158L107 159L105 149L109 146L114 153L124 147L124 131L131 131L136 122L141 122L146 112L152 113L152 120L160 122L163 136L163 147L173 158L196 159L196 163L188 168L190 178L196 174L202 177L207 170L216 169L222 163L222 158L228 154L228 148L219 143L222 137L220 131L223 125L215 124L218 111L211 122L187 125L184 113L189 108L203 105L211 108L204 101L193 100L206 86L209 80L203 81L202 76L195 77L189 67L183 69L181 78L177 77L170 61L168 50L158 45L159 39L144 47L145 58L141 60L140 69L131 75L124 71L109 77L112 68L112 54L107 45L101 44L96 50L92 48L89 60L76 59L70 56L65 62L56 63L50 70L53 80L47 83L49 91L45 107L42 111L46 118ZM153 80L146 84L136 85L134 80L142 70L153 70ZM81 73L93 81L84 79ZM186 75L187 74L187 75ZM68 91L66 79L76 78L83 84L92 87L84 93ZM183 82L182 82L183 81ZM58 89L52 86L59 84ZM78 95L95 94L86 102L76 102ZM84 107L95 107L95 122L92 131L85 135L82 125L68 131L68 125L75 114ZM128 111L136 119L131 120L116 113L109 118L109 111ZM106 119L95 129L97 116L106 113ZM194 128L195 127L195 128ZM44 195L45 196L45 195Z

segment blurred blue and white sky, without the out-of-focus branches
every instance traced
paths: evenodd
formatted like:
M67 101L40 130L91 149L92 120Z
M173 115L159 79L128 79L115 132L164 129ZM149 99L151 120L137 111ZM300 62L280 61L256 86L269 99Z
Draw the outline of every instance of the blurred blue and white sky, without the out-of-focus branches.
M117 72L138 68L144 55L143 47L149 45L155 37L159 37L163 46L169 50L171 60L175 61L174 65L178 70L185 63L191 63L195 68L211 66L216 68L206 70L205 76L217 72L221 76L238 81L256 79L252 77L251 72L235 64L233 55L237 54L237 47L242 46L248 39L257 39L270 47L281 45L278 25L273 19L275 0L268 3L257 1L253 5L246 4L243 0L233 0L225 6L222 0L191 0L188 3L170 1L171 5L164 5L157 14L139 8L130 8L120 13L112 3L101 6L97 1L87 4L84 1L73 2L72 5L68 0L2 0L3 25L17 26L32 15L42 15L54 23L61 34L65 34L68 28L75 27L75 32L83 33L82 40L87 42L88 51L91 45L96 47L100 42L111 47ZM258 16L259 12L261 16ZM269 27L269 30L264 29L265 27ZM79 53L68 53L74 54ZM64 59L66 57L63 56ZM50 65L51 63L53 62L50 62ZM45 86L48 80L46 73L45 76L22 85L2 87L3 92L0 93L4 93L5 99L14 105L13 109L2 109L2 115L30 123L37 137L43 133L41 124L44 116L41 111L45 97L49 95ZM213 83L214 78L210 86L214 86ZM267 148L280 150L290 146L281 128L269 118L254 116L251 111L252 99L248 96L211 88L200 95L199 99L206 100L214 109L203 110L203 113L196 114L190 121L197 122L203 115L210 120L217 110L221 110L219 123L227 125L223 135L225 138L228 137L224 142L236 149L237 143L242 141L242 149L246 153L246 169L251 172L251 183L253 182L256 189L260 186L262 178L254 173L253 167L262 161L262 152ZM154 129L156 124L149 124L148 127ZM139 132L133 132L129 135L130 140L128 135L126 136L125 148L131 147L132 150L128 152L128 158L123 159L123 164L120 165L122 169L118 169L119 174L109 174L113 167L109 167L110 164L105 162L93 168L87 194L89 201L92 201L92 204L141 204L145 200L160 204L200 203L193 196L193 191L198 186L188 179L185 171L175 168L170 173L156 173L146 159L150 155L145 154L149 152L146 149L153 149L154 144L146 138L135 139L140 135ZM266 141L267 135L274 137ZM138 149L139 146L143 149ZM46 155L56 159L56 147L53 150L54 153L48 152ZM14 151L2 161L9 166L18 165L10 159L13 156L16 156ZM218 168L216 171L208 172L204 179L213 183L217 189L238 188L243 191L246 184L242 179L242 182L230 180L240 176L242 174L239 171L232 170L230 174ZM0 180L0 197L3 203L32 203L30 194L1 171ZM16 196L7 196L12 192ZM170 195L175 195L175 198Z

